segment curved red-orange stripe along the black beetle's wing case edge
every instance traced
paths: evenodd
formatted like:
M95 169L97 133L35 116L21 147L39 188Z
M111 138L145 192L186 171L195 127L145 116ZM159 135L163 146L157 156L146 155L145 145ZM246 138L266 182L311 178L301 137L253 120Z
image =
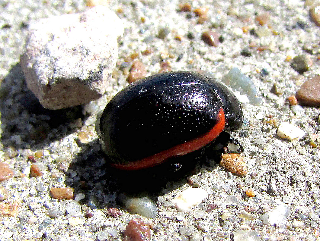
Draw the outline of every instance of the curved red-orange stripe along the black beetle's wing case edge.
M126 164L111 163L110 165L112 167L115 167L117 169L122 169L122 170L140 170L140 169L145 169L145 168L149 168L149 167L153 167L155 165L161 164L162 162L164 162L169 158L191 153L209 144L223 131L226 125L226 120L225 120L224 111L222 108L218 113L217 120L218 120L218 123L215 124L211 130L209 130L208 132L202 134L201 136L195 139L176 145L167 150L145 157L138 161L134 161Z

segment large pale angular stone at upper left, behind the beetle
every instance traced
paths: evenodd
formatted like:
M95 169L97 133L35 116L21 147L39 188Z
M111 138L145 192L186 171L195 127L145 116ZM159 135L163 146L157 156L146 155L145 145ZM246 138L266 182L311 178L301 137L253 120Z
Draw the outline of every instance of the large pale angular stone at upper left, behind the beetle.
M123 31L122 20L105 6L32 24L20 57L28 88L48 109L98 99L111 78Z

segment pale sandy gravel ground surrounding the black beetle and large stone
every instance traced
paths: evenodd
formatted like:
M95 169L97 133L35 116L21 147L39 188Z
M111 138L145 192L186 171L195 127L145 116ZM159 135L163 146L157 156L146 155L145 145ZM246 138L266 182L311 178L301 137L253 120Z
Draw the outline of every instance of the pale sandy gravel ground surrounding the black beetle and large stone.
M153 240L318 239L320 111L303 105L303 111L292 111L287 101L305 80L320 73L320 31L309 19L313 1L202 0L192 2L191 12L179 11L178 0L110 2L125 30L118 39L118 60L105 94L87 106L55 111L41 107L26 87L19 58L27 27L40 18L82 11L84 1L0 4L0 159L13 170L11 178L1 181L8 195L0 202L0 237L121 240L129 220L139 218L151 223ZM208 7L203 24L197 24L199 17L192 12L198 6ZM264 13L270 16L268 26L255 20ZM208 29L220 35L217 47L201 40ZM142 55L147 48L151 53ZM242 55L244 49L251 55ZM301 73L292 67L295 56L307 60ZM128 84L135 59L144 64L147 75L168 62L172 70L198 71L218 80L237 68L251 80L262 103L254 106L242 97L244 125L232 133L244 147L246 177L236 177L205 159L186 177L169 180L149 193L157 206L154 219L129 214L119 205L116 200L124 192L121 179L125 178L106 168L94 125L108 100ZM234 92L250 97L241 89ZM282 121L306 134L299 140L280 139L276 131ZM34 161L44 166L41 177L29 177ZM208 193L204 206L178 212L172 200L191 181ZM52 187L73 188L78 204L53 199ZM249 188L254 197L245 194ZM69 214L60 213L67 207ZM110 207L121 208L122 215L108 215Z

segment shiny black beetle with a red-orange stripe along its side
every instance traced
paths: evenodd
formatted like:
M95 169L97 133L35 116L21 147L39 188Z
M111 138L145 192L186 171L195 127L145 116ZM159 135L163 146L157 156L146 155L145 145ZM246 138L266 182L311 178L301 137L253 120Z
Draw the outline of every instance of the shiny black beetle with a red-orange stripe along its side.
M116 94L98 119L110 165L122 170L157 166L240 129L242 108L223 84L191 71L155 74Z

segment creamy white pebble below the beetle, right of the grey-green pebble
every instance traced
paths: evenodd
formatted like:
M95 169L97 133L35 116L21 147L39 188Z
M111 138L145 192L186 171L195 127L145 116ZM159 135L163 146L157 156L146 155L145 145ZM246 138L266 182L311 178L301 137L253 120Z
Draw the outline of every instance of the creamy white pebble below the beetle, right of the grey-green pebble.
M198 205L205 198L208 197L207 191L203 188L188 188L180 193L180 195L173 199L172 202L176 205L178 212L189 211L190 207Z

